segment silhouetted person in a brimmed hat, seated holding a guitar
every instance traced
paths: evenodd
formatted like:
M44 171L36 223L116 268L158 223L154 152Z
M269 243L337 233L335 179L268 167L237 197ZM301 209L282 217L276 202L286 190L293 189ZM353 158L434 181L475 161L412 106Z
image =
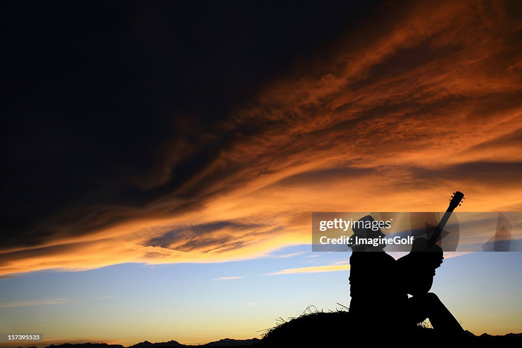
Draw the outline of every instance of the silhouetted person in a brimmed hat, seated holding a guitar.
M359 221L370 221L374 219L366 215ZM385 235L379 229L373 231L365 228L353 229L352 243L355 237L378 238ZM453 337L465 337L465 332L438 299L429 293L431 283L422 281L422 274L410 272L414 269L399 267L398 261L383 250L385 244L367 245L352 244L352 255L350 256L350 313L356 322L381 321L387 323L392 329L413 326L426 318L430 319L433 328L441 333ZM411 253L410 253L411 254ZM422 263L421 253L417 253L418 261ZM424 254L424 253L422 253ZM431 254L431 253L430 253ZM408 258L406 259L408 260ZM409 261L412 261L410 258ZM425 255L424 261L418 265L418 269L428 272L433 278L434 269L442 263L437 253ZM404 265L411 265L403 261ZM426 274L428 274L426 273ZM417 278L421 277L421 278ZM428 275L425 275L428 278ZM413 296L408 298L408 294ZM363 328L364 329L364 328Z

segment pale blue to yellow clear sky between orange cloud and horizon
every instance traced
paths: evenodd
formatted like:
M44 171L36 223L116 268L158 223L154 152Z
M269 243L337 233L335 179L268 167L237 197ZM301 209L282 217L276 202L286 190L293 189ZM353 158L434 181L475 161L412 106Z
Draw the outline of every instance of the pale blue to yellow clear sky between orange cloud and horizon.
M44 333L46 342L127 345L259 337L258 331L274 326L278 317L298 315L310 305L324 310L349 305L348 270L269 275L342 264L350 255L309 250L310 245L299 245L244 261L124 263L3 278L0 326L7 332ZM516 252L446 256L432 291L465 329L522 331L521 262L522 253Z

